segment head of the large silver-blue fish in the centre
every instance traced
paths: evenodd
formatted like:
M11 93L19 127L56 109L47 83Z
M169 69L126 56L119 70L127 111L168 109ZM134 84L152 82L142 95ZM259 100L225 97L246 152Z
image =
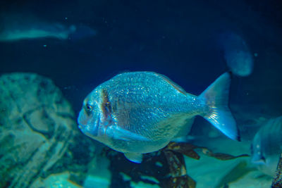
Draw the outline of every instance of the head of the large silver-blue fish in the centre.
M82 133L93 139L97 137L100 116L97 91L94 90L83 101L82 109L78 115L78 127Z

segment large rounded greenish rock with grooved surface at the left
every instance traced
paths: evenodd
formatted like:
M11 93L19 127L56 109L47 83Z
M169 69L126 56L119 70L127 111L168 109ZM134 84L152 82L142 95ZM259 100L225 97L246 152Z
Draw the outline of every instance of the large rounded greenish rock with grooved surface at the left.
M66 155L75 137L75 115L46 77L0 77L0 187L30 187Z

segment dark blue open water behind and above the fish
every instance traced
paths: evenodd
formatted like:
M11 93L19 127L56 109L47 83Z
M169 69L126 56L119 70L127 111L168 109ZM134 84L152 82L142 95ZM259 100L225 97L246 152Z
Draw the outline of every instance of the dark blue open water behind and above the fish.
M233 76L231 106L250 111L259 106L281 115L279 1L11 0L0 2L0 15L11 23L17 15L27 23L36 18L95 31L94 36L84 30L68 39L0 42L0 75L28 72L51 78L75 114L94 87L126 71L161 73L187 92L200 94L228 71L217 39L219 33L232 31L257 56L250 76ZM0 24L0 31L5 30L4 21Z

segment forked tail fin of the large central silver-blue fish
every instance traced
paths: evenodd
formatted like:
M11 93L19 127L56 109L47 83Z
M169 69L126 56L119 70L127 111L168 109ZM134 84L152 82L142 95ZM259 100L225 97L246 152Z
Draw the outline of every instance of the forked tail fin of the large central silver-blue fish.
M208 106L203 117L227 137L240 141L240 134L233 115L228 108L231 73L224 73L198 96Z

